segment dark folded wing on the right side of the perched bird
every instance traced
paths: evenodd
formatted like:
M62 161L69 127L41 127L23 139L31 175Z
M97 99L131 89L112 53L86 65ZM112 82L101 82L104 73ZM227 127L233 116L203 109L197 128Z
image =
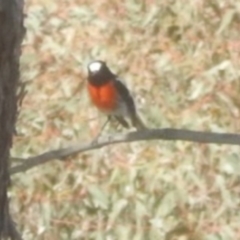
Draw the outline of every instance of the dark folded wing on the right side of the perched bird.
M130 92L128 91L127 87L122 83L121 80L116 78L114 82L116 88L119 90L119 94L122 100L125 101L126 105L128 106L129 115L134 116L136 114L136 108Z

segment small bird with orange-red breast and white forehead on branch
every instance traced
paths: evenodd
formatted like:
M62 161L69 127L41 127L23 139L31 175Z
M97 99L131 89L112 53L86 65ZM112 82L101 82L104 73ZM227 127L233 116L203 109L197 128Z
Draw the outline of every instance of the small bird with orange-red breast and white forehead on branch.
M137 130L146 129L137 114L133 97L128 88L112 73L104 61L96 60L88 65L88 93L92 103L108 119L116 119L123 127L129 128L129 119Z

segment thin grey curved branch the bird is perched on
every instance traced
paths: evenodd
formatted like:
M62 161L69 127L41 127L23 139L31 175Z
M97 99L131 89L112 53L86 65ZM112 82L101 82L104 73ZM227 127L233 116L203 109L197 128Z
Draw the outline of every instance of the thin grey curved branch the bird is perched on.
M75 143L66 148L45 152L28 159L22 159L23 163L12 167L10 169L10 174L29 170L54 159L64 160L64 158L71 155L102 148L111 144L149 140L181 140L198 143L240 145L240 134L209 133L172 128L147 129L137 132L122 133L108 137L100 137L97 142L89 142L85 144Z

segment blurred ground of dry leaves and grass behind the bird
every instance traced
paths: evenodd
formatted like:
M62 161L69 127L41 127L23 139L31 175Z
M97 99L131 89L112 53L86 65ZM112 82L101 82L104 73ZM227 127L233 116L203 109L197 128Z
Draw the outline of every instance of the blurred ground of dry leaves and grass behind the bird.
M25 13L12 156L93 139L105 121L86 94L93 59L125 79L149 127L238 133L238 1L27 0ZM118 144L14 175L11 209L24 239L240 239L239 180L236 146Z

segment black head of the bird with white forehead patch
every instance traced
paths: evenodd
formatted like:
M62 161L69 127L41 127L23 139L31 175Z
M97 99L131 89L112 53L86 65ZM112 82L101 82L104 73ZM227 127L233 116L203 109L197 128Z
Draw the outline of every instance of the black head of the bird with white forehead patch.
M88 81L101 86L111 81L115 75L109 70L105 62L97 60L88 64Z

